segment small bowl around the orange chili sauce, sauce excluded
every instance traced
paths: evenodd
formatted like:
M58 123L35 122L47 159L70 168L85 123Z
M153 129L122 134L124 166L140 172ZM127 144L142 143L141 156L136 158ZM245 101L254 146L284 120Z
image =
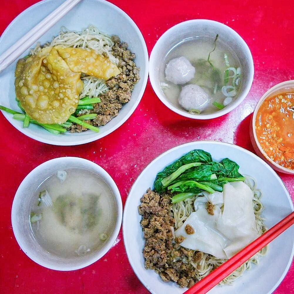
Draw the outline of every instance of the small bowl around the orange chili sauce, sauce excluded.
M256 154L262 158L264 161L266 161L274 170L279 171L281 173L288 173L290 175L294 175L294 170L290 168L285 168L283 166L280 166L278 163L273 161L266 153L263 151L262 147L260 146L260 143L256 136L256 130L255 130L255 121L256 116L259 107L263 103L263 101L273 95L277 95L279 93L285 93L286 91L293 91L294 92L294 80L291 81L285 81L282 83L279 83L272 88L270 88L268 91L266 91L263 96L259 99L257 105L255 106L253 116L250 122L250 140L253 145L253 148L256 152Z

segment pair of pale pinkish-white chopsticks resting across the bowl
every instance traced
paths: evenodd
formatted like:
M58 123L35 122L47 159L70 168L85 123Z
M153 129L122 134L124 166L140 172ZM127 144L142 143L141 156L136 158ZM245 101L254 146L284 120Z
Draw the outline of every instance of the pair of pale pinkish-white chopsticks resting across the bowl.
M0 56L0 72L30 48L81 0L66 0Z

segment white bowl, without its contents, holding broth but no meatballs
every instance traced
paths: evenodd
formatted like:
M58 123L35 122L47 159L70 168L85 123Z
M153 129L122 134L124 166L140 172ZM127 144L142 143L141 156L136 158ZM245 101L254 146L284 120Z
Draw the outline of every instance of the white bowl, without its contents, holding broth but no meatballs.
M29 223L29 204L31 198L35 196L36 188L47 177L67 168L83 168L100 176L113 192L116 203L116 207L114 207L116 222L104 245L92 253L73 258L62 258L44 250L34 239ZM12 203L11 223L17 243L29 258L39 265L53 270L76 270L94 263L111 248L121 228L122 211L123 206L118 188L111 176L101 166L83 158L60 157L37 166L21 182Z

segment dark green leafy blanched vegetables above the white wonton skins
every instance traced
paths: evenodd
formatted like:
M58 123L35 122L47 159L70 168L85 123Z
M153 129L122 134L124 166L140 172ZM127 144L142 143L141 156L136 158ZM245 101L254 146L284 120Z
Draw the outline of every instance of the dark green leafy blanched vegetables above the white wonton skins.
M229 158L224 158L221 162L213 161L210 153L196 149L159 172L154 190L159 193L179 192L172 197L172 202L176 203L201 191L222 192L223 185L232 181L244 181L237 163Z

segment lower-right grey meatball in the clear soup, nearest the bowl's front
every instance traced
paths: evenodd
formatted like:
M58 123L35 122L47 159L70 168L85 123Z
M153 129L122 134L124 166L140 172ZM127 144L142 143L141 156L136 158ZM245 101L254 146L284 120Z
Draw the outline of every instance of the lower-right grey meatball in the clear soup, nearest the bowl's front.
M209 96L201 87L191 84L182 88L179 103L186 110L202 112L208 106L208 102Z

